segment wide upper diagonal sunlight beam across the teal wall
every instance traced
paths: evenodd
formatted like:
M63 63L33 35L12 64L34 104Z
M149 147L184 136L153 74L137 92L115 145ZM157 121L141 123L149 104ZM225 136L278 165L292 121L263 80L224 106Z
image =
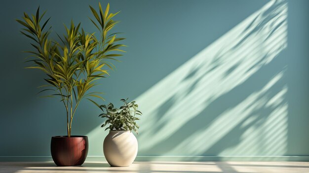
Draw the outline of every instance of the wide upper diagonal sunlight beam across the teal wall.
M139 141L144 142L140 149L147 150L169 138L208 104L270 63L287 46L286 19L287 4L270 1L138 97L136 100L147 115L141 123ZM196 70L196 75L185 79L192 69ZM184 96L183 93L195 80L197 85L194 91ZM156 121L156 109L173 96L176 98L173 106ZM152 131L155 129L152 127L160 129ZM152 137L152 142L147 142L149 137Z

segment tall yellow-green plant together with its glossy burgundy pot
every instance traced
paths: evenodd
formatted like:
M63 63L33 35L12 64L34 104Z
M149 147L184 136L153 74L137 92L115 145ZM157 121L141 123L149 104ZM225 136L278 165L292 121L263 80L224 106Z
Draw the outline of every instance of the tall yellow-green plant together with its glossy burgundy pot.
M44 80L47 85L40 86L43 91L53 93L45 97L58 97L63 103L67 116L67 136L55 136L51 138L51 155L58 166L76 166L85 161L88 153L88 138L86 136L72 136L72 121L81 100L89 97L103 99L100 92L90 92L96 84L96 80L106 77L108 70L115 66L107 60L116 60L115 57L124 52L120 48L123 44L116 44L124 38L109 34L110 30L118 23L112 18L117 13L109 13L109 4L103 12L99 3L99 14L89 6L95 20L91 22L99 30L100 37L96 34L86 34L80 27L80 23L66 29L63 37L59 36L59 42L49 37L51 30L47 28L50 18L42 22L45 12L40 15L39 8L36 15L29 16L24 13L23 21L16 19L25 28L21 34L30 38L34 47L27 62L33 65L26 69L40 69L46 74ZM96 21L96 22L95 22ZM112 53L111 53L112 52ZM97 104L96 104L97 105Z

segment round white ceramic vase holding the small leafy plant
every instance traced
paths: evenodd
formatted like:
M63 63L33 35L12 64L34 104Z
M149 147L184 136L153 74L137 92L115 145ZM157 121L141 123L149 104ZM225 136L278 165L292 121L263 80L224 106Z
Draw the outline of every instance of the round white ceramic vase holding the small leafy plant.
M103 142L107 162L114 167L130 166L137 155L137 139L131 131L110 131Z

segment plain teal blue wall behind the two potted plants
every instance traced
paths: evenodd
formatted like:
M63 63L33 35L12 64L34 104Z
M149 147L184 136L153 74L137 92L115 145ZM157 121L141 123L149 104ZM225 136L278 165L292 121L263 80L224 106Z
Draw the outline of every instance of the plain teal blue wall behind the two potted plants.
M36 95L44 75L23 69L30 40L14 19L40 5L54 32L71 19L95 32L88 4L98 1L1 1L0 160L50 160L51 136L66 134L63 105ZM308 0L110 4L129 47L97 90L140 104L138 160L308 160ZM103 159L99 113L83 101L73 122L89 160Z

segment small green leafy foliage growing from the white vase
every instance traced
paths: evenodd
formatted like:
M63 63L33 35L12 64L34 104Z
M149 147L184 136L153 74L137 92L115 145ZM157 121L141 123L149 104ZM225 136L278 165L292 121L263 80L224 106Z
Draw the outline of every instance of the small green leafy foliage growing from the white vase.
M134 131L138 134L137 129L139 126L136 124L136 120L139 120L135 115L142 115L142 112L137 110L138 104L133 102L128 102L128 99L121 99L124 102L119 108L114 107L114 104L109 103L108 105L100 105L99 107L103 111L99 116L102 118L107 118L101 127L105 127L109 124L105 130L115 130L115 131Z

